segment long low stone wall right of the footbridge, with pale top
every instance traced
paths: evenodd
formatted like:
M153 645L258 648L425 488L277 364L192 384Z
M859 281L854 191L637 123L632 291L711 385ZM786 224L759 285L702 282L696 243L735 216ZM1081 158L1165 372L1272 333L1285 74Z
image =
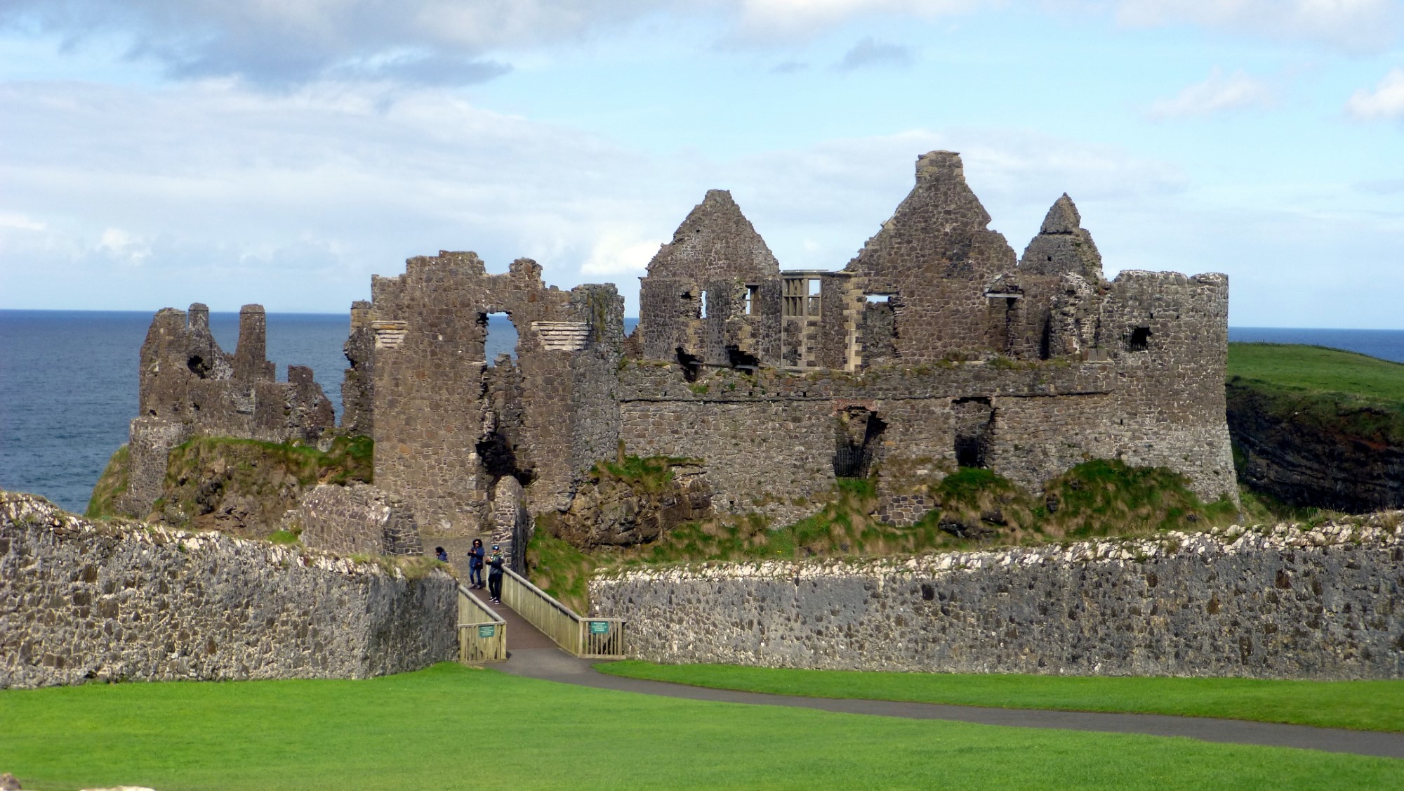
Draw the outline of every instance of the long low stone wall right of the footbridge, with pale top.
M597 577L654 662L1102 676L1404 677L1404 531L1165 534L910 561Z

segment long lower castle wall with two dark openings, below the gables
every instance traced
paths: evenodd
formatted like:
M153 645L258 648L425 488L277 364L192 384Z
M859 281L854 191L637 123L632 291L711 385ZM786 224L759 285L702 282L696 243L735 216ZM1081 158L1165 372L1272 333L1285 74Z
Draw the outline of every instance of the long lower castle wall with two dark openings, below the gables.
M1090 458L1122 458L1181 471L1209 500L1231 496L1227 440L1200 421L1213 393L1161 385L1172 367L1123 371L1112 361L974 361L862 375L717 371L689 382L677 365L629 362L619 372L619 438L629 454L701 459L717 510L778 521L812 513L833 489L840 417L854 410L882 421L870 471L885 495L953 471L967 431L962 410L976 406L988 421L977 429L980 462L1028 490ZM1160 386L1175 400L1161 403ZM1220 445L1223 454L1203 451Z

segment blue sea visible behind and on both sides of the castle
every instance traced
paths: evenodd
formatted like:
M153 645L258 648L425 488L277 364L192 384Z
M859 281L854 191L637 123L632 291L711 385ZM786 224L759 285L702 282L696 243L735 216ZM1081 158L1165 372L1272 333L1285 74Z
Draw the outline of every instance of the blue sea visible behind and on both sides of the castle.
M0 489L42 495L72 511L88 495L108 457L126 441L136 416L138 353L150 313L0 310ZM636 319L626 319L632 332ZM209 329L226 351L239 340L237 313L211 313ZM309 365L341 413L345 315L270 313L268 358ZM1404 362L1404 330L1230 327L1230 340L1311 343ZM511 353L517 333L491 316L487 358Z

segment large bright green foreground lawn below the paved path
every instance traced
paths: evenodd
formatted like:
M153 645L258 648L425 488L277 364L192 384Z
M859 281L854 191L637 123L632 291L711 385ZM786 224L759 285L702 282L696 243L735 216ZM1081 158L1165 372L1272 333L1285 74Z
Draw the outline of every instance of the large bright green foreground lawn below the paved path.
M590 690L366 681L0 691L25 788L1404 788L1404 761Z

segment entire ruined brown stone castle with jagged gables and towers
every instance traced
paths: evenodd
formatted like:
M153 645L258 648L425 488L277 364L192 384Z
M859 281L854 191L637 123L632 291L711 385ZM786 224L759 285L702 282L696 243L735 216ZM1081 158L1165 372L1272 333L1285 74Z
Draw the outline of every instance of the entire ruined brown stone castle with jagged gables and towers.
M373 437L375 486L421 530L518 547L625 452L696 459L717 511L775 523L817 510L840 478L873 478L879 514L906 524L956 466L1033 490L1094 458L1237 497L1227 278L1108 281L1067 195L1016 257L958 155L927 153L915 176L835 271L782 270L730 194L709 191L649 264L629 337L614 285L546 287L526 259L504 274L475 253L410 259L352 305L340 430ZM491 313L517 327L515 360L486 358ZM185 437L334 429L305 370L272 382L261 319L246 308L227 355L201 306L156 315L128 511L150 509Z

